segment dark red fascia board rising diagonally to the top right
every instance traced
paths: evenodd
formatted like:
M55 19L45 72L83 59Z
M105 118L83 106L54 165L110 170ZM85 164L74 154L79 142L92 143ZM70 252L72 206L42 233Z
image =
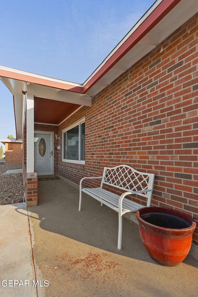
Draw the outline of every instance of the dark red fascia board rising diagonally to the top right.
M118 48L118 50L109 58L104 66L88 81L83 88L86 93L98 80L101 79L127 52L132 49L153 27L163 19L181 0L164 0L147 19L136 29L135 32Z

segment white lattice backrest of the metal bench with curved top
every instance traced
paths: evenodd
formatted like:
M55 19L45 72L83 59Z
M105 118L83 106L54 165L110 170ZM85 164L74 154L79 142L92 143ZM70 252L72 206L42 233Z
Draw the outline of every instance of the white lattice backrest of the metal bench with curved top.
M153 180L153 174L137 171L127 165L113 168L105 167L101 187L103 184L106 184L127 190L127 192L137 192L151 189ZM151 192L138 193L138 195L148 198L151 196Z

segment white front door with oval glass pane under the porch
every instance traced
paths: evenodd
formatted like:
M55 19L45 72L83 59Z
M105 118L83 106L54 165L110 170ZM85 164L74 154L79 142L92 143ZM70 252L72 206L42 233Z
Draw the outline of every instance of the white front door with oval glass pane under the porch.
M34 133L34 170L38 175L53 174L53 132Z

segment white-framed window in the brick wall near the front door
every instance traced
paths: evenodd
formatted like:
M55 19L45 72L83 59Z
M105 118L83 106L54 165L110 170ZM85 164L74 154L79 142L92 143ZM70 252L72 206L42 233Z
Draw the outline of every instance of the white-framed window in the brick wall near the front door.
M84 119L62 131L62 160L85 162Z

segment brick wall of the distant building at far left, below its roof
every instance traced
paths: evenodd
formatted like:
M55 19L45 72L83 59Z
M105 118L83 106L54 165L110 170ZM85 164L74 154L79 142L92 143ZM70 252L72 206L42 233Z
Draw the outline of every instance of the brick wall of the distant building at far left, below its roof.
M5 152L5 164L22 164L22 143L6 142Z

